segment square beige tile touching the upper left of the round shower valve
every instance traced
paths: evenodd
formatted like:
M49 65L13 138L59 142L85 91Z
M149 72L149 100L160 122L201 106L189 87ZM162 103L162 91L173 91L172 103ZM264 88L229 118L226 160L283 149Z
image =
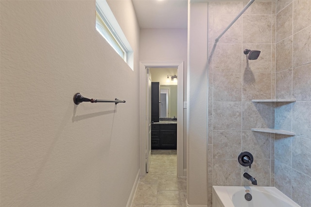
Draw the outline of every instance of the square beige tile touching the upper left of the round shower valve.
M235 159L241 153L241 131L213 132L213 159Z

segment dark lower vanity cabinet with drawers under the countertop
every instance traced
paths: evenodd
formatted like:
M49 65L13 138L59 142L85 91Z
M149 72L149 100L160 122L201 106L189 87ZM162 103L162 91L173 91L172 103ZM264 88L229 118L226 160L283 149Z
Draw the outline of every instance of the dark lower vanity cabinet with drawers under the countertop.
M152 124L151 149L177 149L177 125Z

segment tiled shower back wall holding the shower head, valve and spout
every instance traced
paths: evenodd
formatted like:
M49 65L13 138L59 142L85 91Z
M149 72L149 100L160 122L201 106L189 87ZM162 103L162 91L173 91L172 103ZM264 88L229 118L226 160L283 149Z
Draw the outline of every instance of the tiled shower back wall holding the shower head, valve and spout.
M214 45L216 37L247 2L208 3L208 206L212 186L249 186L248 172L259 186L274 186L274 135L251 128L274 127L274 105L252 99L275 97L276 3L254 2ZM247 60L244 49L260 50ZM254 156L251 169L238 155Z

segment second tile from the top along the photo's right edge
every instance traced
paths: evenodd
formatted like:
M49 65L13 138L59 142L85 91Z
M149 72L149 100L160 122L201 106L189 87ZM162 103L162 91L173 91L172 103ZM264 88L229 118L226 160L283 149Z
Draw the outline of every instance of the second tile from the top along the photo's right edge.
M311 63L311 26L293 35L293 67Z

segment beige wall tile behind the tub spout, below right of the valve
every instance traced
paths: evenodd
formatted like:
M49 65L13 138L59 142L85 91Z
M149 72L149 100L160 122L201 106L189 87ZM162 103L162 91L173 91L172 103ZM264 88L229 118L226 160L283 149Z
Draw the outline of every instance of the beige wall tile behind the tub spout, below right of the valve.
M270 179L270 159L255 159L251 169L242 168L242 186L253 186L253 184L243 177L243 173L247 172L257 180L257 186L271 186Z

